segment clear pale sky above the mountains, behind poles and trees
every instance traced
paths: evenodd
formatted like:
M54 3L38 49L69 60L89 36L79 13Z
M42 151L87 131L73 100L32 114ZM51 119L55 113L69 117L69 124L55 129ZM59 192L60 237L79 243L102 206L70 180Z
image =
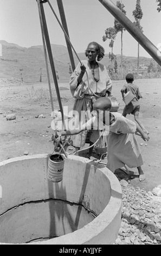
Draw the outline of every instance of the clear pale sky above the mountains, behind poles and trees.
M57 17L60 19L56 0L49 0ZM116 4L117 0L112 0ZM91 41L98 42L111 52L110 40L102 41L105 29L114 26L113 15L98 0L62 0L65 10L70 41L77 53L85 52ZM136 0L122 0L126 16L132 22L132 11ZM57 22L49 4L44 3L49 38L51 44L66 46L65 35ZM161 12L157 11L156 0L141 0L143 34L158 48L161 45ZM0 40L5 40L22 47L42 45L40 18L36 0L0 0ZM159 45L160 44L160 45ZM138 42L127 31L123 34L123 54L137 57ZM121 53L121 33L114 42L114 54ZM142 46L140 56L151 58Z

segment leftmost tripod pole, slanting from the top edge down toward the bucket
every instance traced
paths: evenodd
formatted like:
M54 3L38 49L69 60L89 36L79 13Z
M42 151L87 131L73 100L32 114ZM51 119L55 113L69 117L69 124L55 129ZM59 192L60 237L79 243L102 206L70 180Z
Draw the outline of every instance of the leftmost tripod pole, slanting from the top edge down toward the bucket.
M47 49L48 49L48 56L49 56L49 60L50 60L51 71L52 71L52 74L53 74L53 79L54 79L57 99L58 99L58 102L59 102L59 107L60 107L60 112L61 112L61 116L62 116L62 122L63 122L64 130L66 130L63 108L62 108L62 103L61 103L61 97L60 97L60 92L59 92L59 86L58 86L58 83L57 83L55 65L54 65L54 60L53 60L53 54L52 54L52 51L51 51L51 45L50 45L50 39L49 39L49 34L48 34L46 17L45 17L45 14L44 14L43 4L41 3L40 5L41 5L41 15L42 15L44 36L45 36L45 39L46 39L46 45L47 45Z

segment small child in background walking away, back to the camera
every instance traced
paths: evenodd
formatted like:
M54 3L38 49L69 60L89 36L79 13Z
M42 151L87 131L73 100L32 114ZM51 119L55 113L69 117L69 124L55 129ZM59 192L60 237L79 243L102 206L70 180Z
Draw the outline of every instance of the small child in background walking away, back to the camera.
M145 129L141 121L139 120L139 111L140 111L140 104L139 104L139 99L142 98L139 87L133 83L134 81L134 76L133 74L129 73L126 75L126 82L127 84L124 85L124 87L121 89L121 94L122 97L124 98L124 94L127 92L131 92L135 98L130 102L128 105L125 106L123 110L123 116L126 117L127 114L132 114L134 115L134 119L138 123L138 125L141 127L141 129L149 134L149 131Z

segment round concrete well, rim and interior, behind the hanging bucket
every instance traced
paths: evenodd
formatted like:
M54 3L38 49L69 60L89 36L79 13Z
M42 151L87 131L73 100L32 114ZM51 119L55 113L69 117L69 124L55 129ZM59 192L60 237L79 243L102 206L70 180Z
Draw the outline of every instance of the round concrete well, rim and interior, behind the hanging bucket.
M48 156L0 163L0 243L113 243L121 223L115 175L101 164L69 155L62 181L51 182Z

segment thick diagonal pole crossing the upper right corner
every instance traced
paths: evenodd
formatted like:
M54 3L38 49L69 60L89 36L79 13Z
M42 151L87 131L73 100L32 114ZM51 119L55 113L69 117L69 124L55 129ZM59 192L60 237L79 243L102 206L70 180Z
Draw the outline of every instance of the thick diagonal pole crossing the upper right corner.
M161 56L159 50L146 36L127 18L125 14L110 0L99 0L104 7L117 19L121 25L130 33L134 39L156 60L161 66ZM160 52L159 52L160 53Z

